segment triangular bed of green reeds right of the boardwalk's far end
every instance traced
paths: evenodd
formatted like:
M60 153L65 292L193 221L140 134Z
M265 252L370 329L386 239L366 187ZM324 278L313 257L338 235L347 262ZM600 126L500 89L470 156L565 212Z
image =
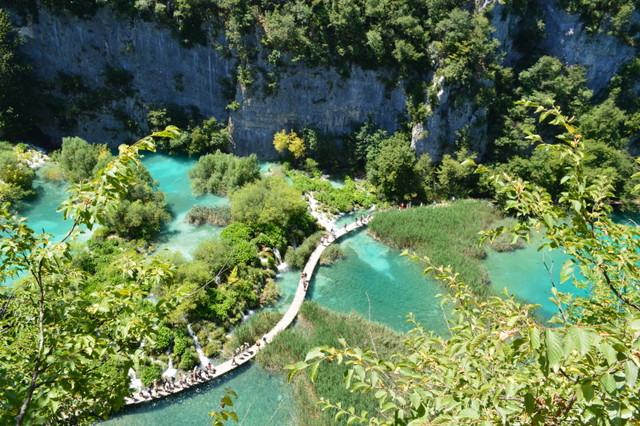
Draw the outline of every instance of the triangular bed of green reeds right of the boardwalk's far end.
M478 245L478 232L503 220L487 201L468 200L381 212L369 230L392 247L428 256L437 265L451 265L474 292L486 295L490 281L481 260L487 253Z

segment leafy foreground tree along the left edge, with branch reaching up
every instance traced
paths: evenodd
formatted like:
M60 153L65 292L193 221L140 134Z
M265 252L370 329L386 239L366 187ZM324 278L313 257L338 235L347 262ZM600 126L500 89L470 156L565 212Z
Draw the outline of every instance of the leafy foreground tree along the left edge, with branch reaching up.
M173 137L175 130L152 136ZM60 210L73 224L60 241L36 234L6 204L0 209L0 281L25 274L2 292L1 423L88 421L124 403L133 355L170 308L166 300L152 305L148 289L170 281L173 271L158 258L125 255L117 264L120 280L88 292L90 276L74 265L71 243L80 225L104 224L107 207L135 180L140 149L154 149L153 140L122 145L95 178L70 187Z

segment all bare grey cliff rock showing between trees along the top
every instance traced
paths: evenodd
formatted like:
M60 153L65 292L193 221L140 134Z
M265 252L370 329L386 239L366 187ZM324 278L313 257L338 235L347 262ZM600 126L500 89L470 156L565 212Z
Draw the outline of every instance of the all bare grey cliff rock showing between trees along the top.
M485 3L483 7L492 2ZM493 3L494 36L506 54L505 64L512 65L522 55L514 50L513 42L514 27L521 18L511 6ZM568 64L584 65L594 92L602 90L618 67L634 56L631 47L612 36L588 35L578 18L563 12L555 1L541 1L540 7L547 32L542 46L545 52ZM195 108L205 117L228 122L235 151L255 152L264 158L278 155L272 138L281 129L308 126L340 136L370 116L387 131L406 120L402 85L394 84L384 71L353 66L345 77L333 68L308 68L298 63L275 68L258 53L257 62L250 64L261 70L257 84L244 88L236 83L233 54L221 53L224 46L214 48L224 44L221 40L187 48L166 27L139 19L118 19L109 10L79 19L41 8L37 19L23 20L18 26L26 41L24 53L45 82L62 72L82 76L86 86L104 87L107 67L132 76L131 90L89 113L76 114L73 128L62 130L54 118L45 119L42 130L58 143L62 136L77 135L117 145L147 131L144 126L132 129L127 121L145 123L150 109L167 103ZM260 77L266 73L277 76L277 87L269 94L265 94ZM60 93L64 96L64 91ZM438 101L430 108L432 114L414 126L414 149L438 159L453 150L462 131L481 154L491 139L484 106L475 105L464 91L454 87L440 87ZM235 108L230 112L227 107L231 102Z

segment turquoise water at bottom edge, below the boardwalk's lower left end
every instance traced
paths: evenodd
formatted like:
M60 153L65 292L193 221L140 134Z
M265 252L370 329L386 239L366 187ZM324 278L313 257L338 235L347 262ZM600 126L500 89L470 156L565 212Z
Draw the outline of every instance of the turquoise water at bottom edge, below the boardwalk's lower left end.
M284 380L269 374L256 364L229 373L195 389L139 407L125 409L103 425L175 426L210 424L208 413L217 410L225 389L238 394L233 409L242 425L296 424L289 388ZM229 423L231 424L231 422ZM235 423L233 423L235 424ZM300 424L297 422L297 424Z

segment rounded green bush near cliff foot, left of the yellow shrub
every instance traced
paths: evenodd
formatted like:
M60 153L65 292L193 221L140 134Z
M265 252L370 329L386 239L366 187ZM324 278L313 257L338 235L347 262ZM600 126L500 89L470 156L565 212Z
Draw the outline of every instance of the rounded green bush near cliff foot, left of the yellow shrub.
M236 157L217 151L200 157L196 165L189 170L189 178L196 195L227 195L260 178L258 158L255 154Z

